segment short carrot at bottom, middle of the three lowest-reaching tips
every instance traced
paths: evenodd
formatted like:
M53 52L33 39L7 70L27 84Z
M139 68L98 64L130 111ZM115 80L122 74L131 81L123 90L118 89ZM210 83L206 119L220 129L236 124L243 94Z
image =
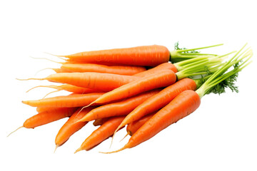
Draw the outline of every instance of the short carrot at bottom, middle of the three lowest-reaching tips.
M88 138L86 138L86 140L82 143L81 147L76 150L76 152L81 150L91 150L93 147L99 145L101 142L109 138L114 134L114 130L116 130L117 126L123 119L124 116L118 116L107 120L103 125L91 133Z

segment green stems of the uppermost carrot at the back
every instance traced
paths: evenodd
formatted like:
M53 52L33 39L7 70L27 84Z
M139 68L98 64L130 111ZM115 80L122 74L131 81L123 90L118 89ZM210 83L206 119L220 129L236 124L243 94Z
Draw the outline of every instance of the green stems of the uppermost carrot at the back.
M203 49L203 48L212 48L215 46L221 46L223 44L217 44L217 45L213 45L213 46L205 46L205 47L201 47L201 48L178 48L178 42L175 43L175 50L171 51L170 54L170 61L171 63L177 63L180 61L184 61L187 59L191 59L191 58L196 58L198 56L217 56L216 54L211 54L211 53L200 53L199 49Z

